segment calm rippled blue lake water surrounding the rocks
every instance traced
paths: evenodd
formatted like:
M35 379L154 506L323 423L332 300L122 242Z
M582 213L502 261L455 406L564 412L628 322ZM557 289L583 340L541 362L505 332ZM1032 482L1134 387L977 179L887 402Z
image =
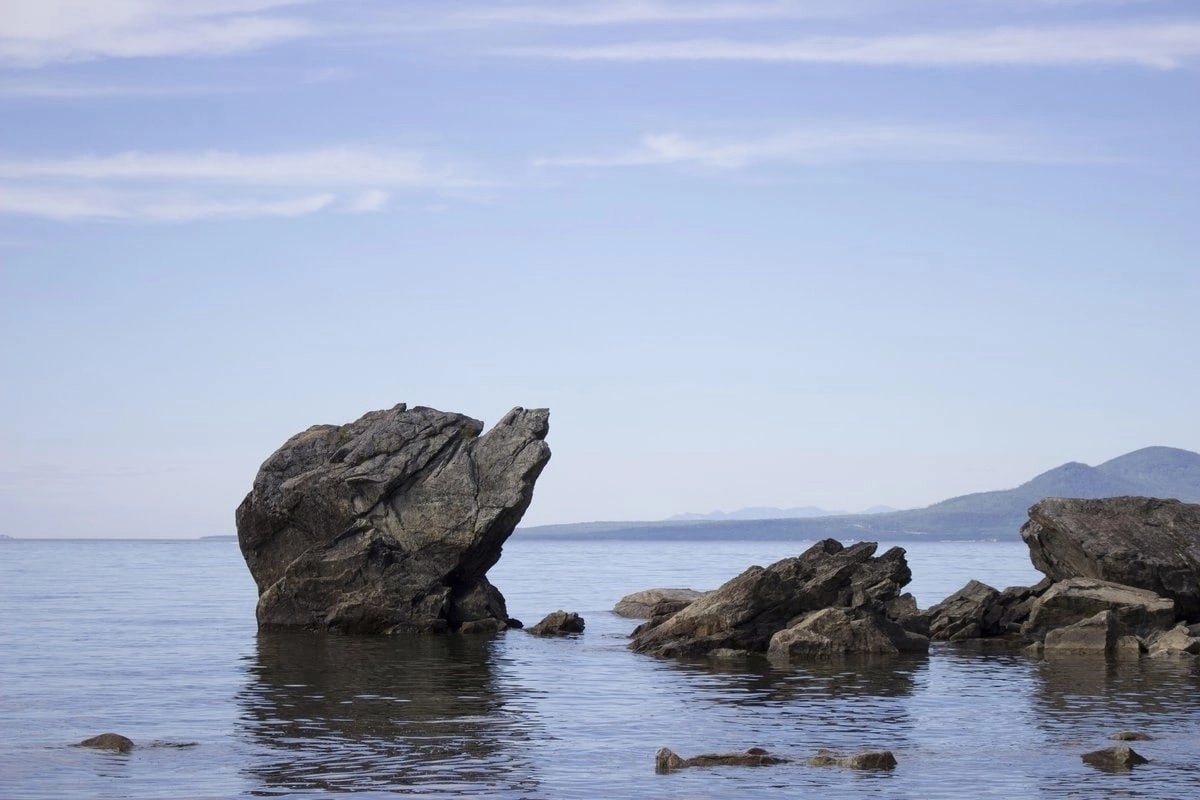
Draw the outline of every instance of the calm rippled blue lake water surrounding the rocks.
M787 669L629 652L608 612L649 587L710 589L786 542L516 537L491 573L527 624L581 637L258 636L229 541L0 542L0 798L1193 798L1192 658L928 657ZM1040 576L1020 542L907 545L929 606ZM882 552L882 548L881 548ZM1151 763L1085 765L1139 729ZM115 730L128 754L74 747ZM899 766L654 772L654 753L889 748Z

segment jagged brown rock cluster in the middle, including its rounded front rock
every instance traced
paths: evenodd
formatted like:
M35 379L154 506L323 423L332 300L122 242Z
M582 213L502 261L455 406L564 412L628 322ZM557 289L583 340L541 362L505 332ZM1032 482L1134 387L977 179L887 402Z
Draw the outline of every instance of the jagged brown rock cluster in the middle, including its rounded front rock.
M798 557L752 566L682 608L650 616L630 646L658 656L745 651L784 660L924 652L924 619L912 597L900 594L912 578L904 549L880 557L875 551L874 542L844 547L827 539Z

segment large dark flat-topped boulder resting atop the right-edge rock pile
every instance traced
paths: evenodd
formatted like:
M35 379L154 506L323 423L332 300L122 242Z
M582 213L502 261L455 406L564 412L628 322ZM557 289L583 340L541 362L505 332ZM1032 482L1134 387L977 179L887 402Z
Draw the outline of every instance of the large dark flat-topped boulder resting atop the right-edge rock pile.
M1048 498L1021 528L1033 566L1054 581L1097 578L1175 601L1200 620L1200 505L1154 498Z

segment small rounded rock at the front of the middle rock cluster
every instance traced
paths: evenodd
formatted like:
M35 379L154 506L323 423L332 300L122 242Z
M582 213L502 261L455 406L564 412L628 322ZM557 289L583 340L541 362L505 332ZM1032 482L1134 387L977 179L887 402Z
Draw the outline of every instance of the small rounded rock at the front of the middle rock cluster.
M770 637L773 660L803 661L847 654L928 652L929 638L869 609L823 608Z

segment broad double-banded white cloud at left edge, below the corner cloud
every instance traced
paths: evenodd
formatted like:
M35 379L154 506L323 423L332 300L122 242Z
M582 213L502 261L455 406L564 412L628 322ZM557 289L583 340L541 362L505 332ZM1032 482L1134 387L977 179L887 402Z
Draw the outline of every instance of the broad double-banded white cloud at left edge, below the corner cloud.
M50 219L182 222L384 209L397 191L482 187L420 152L330 148L0 158L0 213Z

